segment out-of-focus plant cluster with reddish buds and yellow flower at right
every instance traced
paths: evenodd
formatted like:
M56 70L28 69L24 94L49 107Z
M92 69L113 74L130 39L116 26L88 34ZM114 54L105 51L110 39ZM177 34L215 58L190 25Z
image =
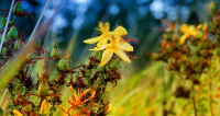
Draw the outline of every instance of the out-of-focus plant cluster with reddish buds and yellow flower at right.
M162 20L167 28L158 28L164 32L161 37L161 50L150 53L150 56L166 63L166 69L175 73L179 81L173 95L176 98L191 100L183 107L186 111L191 104L195 116L200 114L215 113L213 82L219 76L220 55L220 9L216 9L210 2L209 22L199 25L188 25L173 23ZM216 84L216 83L215 83ZM217 93L218 94L218 93ZM209 106L202 105L204 101L209 101ZM168 101L164 101L166 107ZM172 102L175 107L174 102ZM164 116L177 115L174 108L164 108Z

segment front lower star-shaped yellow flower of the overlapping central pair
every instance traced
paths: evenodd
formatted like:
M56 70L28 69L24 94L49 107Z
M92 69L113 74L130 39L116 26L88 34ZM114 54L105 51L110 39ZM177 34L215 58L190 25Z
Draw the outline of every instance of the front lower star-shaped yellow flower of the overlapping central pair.
M133 47L125 42L120 42L119 37L116 38L113 35L111 36L110 44L102 45L100 47L96 47L95 49L89 50L103 50L101 66L105 66L112 57L113 53L123 59L127 62L131 62L131 59L127 56L124 51L133 51ZM124 51L123 51L124 50Z

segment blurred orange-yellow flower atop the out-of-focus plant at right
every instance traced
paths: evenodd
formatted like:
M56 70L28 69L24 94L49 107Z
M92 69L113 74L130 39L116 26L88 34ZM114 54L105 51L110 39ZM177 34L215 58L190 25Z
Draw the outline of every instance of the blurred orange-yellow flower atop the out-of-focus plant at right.
M183 45L188 36L200 36L200 28L202 27L202 24L199 24L198 26L194 25L187 25L187 24L182 24L180 25L180 31L184 33L184 35L179 39L179 44Z

